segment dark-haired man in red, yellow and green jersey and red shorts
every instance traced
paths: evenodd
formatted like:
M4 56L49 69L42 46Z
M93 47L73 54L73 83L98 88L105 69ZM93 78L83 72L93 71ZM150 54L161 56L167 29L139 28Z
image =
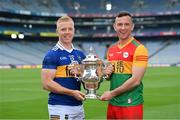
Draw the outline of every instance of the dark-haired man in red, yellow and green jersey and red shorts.
M109 100L107 119L143 119L142 78L148 63L147 49L132 35L134 23L128 12L120 12L113 24L118 42L107 52L114 67L107 67L110 91L101 100Z

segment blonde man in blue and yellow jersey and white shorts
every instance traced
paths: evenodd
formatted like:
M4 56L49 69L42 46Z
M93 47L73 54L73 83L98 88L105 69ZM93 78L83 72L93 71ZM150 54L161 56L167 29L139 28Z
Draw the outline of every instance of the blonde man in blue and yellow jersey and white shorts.
M83 120L82 101L84 93L80 91L80 81L73 75L77 70L70 69L72 62L81 64L85 58L82 51L73 47L74 21L69 16L57 20L57 44L47 52L42 64L42 86L50 91L48 110L50 120Z

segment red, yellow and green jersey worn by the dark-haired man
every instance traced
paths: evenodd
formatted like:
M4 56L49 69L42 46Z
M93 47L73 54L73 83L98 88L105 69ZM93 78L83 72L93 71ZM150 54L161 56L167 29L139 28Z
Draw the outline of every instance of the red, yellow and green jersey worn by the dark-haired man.
M148 51L132 37L124 46L120 46L118 43L111 46L108 50L107 58L114 65L114 72L110 78L110 90L114 90L131 78L132 66L147 66ZM110 100L110 104L115 106L134 106L142 103L142 82L132 90Z

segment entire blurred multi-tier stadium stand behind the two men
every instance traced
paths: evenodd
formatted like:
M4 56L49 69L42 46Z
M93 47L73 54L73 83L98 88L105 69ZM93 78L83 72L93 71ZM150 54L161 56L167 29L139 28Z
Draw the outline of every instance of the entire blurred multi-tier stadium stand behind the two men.
M1 0L0 65L40 65L56 44L55 21L64 14L75 20L74 46L86 53L93 46L105 60L117 41L112 24L121 10L133 13L133 35L148 48L150 65L180 64L179 0Z

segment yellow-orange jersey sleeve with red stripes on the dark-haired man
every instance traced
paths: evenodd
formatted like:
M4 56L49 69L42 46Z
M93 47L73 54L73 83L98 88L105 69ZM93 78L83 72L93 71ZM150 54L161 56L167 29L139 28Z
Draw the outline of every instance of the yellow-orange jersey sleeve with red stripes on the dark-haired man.
M148 64L148 50L143 45L139 45L133 56L133 65L146 67Z

